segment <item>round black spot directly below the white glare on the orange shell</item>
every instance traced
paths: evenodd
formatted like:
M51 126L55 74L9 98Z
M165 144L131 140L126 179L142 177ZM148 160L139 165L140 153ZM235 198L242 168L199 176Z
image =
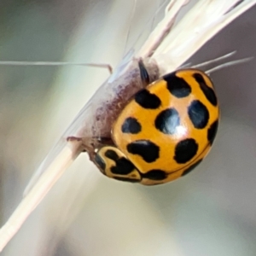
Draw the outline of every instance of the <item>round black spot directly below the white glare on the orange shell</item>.
M174 160L176 160L178 164L185 164L195 156L197 150L198 144L195 142L195 139L185 139L177 143Z

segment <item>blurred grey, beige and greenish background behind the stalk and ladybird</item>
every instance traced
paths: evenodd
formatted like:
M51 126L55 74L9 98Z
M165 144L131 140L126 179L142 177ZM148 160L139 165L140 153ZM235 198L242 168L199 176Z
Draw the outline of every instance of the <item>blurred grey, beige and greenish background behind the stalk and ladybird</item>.
M160 19L161 12L146 29L162 2L137 0L132 15L133 2L125 0L3 0L0 60L115 67ZM256 8L241 15L190 61L233 50L236 59L256 56L255 15ZM255 73L255 59L212 73L222 121L195 172L148 188L103 177L81 155L2 255L255 256ZM107 78L100 68L0 66L1 225L32 172Z

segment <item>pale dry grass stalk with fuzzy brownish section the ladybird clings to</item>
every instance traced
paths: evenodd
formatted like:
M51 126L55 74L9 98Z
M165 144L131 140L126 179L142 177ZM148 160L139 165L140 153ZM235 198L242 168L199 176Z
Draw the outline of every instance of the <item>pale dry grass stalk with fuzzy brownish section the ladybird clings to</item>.
M126 55L114 73L86 103L73 125L61 137L26 188L24 197L0 230L0 251L15 236L30 213L43 200L61 174L84 150L90 159L101 145L99 137L109 137L111 124L127 100L142 88L137 62L143 59L151 80L180 67L202 45L253 7L256 0L199 0L174 26L175 18L188 0L172 0L166 14L143 47ZM118 108L111 108L112 106ZM90 125L88 125L90 124ZM67 137L79 137L69 139Z

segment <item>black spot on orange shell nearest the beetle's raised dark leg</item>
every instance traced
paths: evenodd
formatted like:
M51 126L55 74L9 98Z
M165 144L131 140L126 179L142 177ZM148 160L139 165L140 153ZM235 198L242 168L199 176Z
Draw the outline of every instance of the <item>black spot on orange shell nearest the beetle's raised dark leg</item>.
M161 104L160 98L146 89L138 91L134 99L143 108L156 109Z

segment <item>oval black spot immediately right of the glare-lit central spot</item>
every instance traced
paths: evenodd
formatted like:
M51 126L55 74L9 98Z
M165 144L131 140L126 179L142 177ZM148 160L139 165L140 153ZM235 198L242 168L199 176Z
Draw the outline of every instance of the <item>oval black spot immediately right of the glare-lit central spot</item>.
M196 129L203 129L207 126L209 120L209 111L200 101L193 101L189 106L189 119Z

